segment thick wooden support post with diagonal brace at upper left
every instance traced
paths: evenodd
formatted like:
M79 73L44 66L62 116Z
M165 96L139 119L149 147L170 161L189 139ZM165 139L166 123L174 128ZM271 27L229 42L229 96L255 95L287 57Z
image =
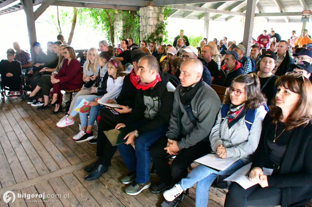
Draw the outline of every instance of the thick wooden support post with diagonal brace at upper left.
M35 27L35 15L33 10L32 0L22 0L21 1L23 9L26 13L26 21L28 28L28 38L30 44L30 51L32 45L37 42L36 27ZM33 58L32 58L33 59Z

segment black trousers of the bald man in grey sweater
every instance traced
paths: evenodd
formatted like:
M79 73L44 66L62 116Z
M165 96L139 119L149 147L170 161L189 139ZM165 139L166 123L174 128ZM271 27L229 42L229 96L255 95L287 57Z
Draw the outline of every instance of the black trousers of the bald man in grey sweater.
M188 166L195 159L211 152L210 142L208 140L200 141L194 146L182 149L173 159L170 168L167 158L169 154L163 149L167 146L167 141L167 137L163 137L149 149L155 172L160 177L160 181L167 185L178 183L188 175Z

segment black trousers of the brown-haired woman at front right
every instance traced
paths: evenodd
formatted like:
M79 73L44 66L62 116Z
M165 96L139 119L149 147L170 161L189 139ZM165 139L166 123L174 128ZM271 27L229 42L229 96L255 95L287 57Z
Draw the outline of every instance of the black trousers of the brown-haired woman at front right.
M227 192L224 207L276 206L280 205L280 201L280 188L263 188L257 184L245 190L238 183L233 182Z

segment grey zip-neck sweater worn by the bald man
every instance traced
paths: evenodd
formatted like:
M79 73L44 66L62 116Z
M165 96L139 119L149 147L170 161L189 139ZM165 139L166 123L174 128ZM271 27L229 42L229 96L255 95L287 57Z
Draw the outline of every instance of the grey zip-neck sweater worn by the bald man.
M178 148L182 150L196 145L197 142L205 139L209 135L220 109L221 101L217 93L207 85L207 83L202 82L202 85L198 88L197 93L191 101L194 117L198 119L197 126L194 127L193 123L188 118L185 107L180 101L180 88L181 85L174 91L173 111L169 122L169 131L166 133L166 136L172 140L178 139L178 112L181 109L183 113L181 118L181 133L186 136L178 140L177 145Z

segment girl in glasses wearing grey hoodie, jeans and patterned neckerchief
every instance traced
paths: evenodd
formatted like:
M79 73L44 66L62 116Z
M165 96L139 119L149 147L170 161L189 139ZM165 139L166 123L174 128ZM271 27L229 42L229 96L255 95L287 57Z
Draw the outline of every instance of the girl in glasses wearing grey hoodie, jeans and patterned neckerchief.
M229 93L225 104L220 109L215 125L210 132L210 142L213 152L220 158L240 158L226 170L218 172L202 164L194 168L186 178L183 178L173 188L163 193L167 201L192 187L196 182L196 206L208 205L209 188L218 175L230 175L251 161L260 139L262 121L266 115L263 103L266 99L260 92L260 81L254 74L237 76L228 88ZM227 107L225 117L222 117L223 107ZM255 110L253 123L248 129L246 114ZM236 205L232 205L236 206Z

